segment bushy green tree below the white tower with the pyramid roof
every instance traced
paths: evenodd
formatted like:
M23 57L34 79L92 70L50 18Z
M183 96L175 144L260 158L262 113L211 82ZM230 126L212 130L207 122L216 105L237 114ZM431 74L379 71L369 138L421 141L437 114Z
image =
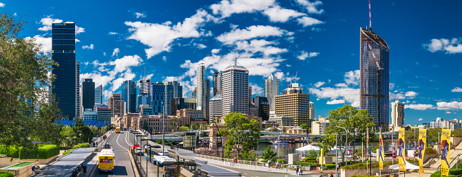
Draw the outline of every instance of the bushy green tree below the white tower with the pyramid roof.
M232 150L238 151L238 158L253 159L249 153L257 146L260 139L260 124L255 119L247 119L242 113L229 113L224 117L226 129L220 130L221 134L226 134L227 142L224 144L224 156L230 157ZM246 152L242 153L241 152Z

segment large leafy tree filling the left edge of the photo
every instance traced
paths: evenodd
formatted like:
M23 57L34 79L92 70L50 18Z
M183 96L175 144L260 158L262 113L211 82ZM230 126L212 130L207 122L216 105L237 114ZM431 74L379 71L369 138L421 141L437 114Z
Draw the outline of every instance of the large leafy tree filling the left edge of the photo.
M13 17L0 14L0 144L36 148L32 139L59 143L60 126L54 120L61 116L48 93L55 63L34 39L18 36L23 22Z

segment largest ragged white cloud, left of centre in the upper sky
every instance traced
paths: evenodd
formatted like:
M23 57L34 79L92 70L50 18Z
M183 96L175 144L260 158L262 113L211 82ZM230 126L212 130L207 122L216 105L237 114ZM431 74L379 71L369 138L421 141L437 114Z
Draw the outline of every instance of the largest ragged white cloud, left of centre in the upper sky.
M149 46L149 49L145 49L149 59L162 51L169 51L171 43L177 38L204 36L204 32L198 31L198 28L205 22L212 20L216 20L216 18L205 12L205 10L198 10L196 14L176 25L171 25L170 21L162 24L126 21L125 25L129 26L129 32L132 32L132 35L128 37L129 39L138 40L140 43Z

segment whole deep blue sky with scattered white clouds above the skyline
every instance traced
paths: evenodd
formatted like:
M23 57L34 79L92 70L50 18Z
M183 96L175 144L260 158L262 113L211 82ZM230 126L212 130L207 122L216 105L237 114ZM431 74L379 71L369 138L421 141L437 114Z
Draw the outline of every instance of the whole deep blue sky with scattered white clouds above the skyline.
M190 97L196 67L207 75L233 58L250 72L254 96L274 74L280 92L297 73L315 115L359 106L359 27L368 1L15 1L0 12L22 21L22 36L51 50L51 23L76 23L81 80L178 80ZM460 119L462 38L459 1L374 1L372 29L390 47L390 102L406 103L406 124Z

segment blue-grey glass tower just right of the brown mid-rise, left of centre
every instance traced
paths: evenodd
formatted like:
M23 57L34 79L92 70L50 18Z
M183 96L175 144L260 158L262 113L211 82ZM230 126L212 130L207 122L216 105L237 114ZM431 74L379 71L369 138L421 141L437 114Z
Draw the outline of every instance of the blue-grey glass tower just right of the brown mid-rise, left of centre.
M136 113L136 83L133 80L125 80L122 84L122 94L125 105L125 113Z

